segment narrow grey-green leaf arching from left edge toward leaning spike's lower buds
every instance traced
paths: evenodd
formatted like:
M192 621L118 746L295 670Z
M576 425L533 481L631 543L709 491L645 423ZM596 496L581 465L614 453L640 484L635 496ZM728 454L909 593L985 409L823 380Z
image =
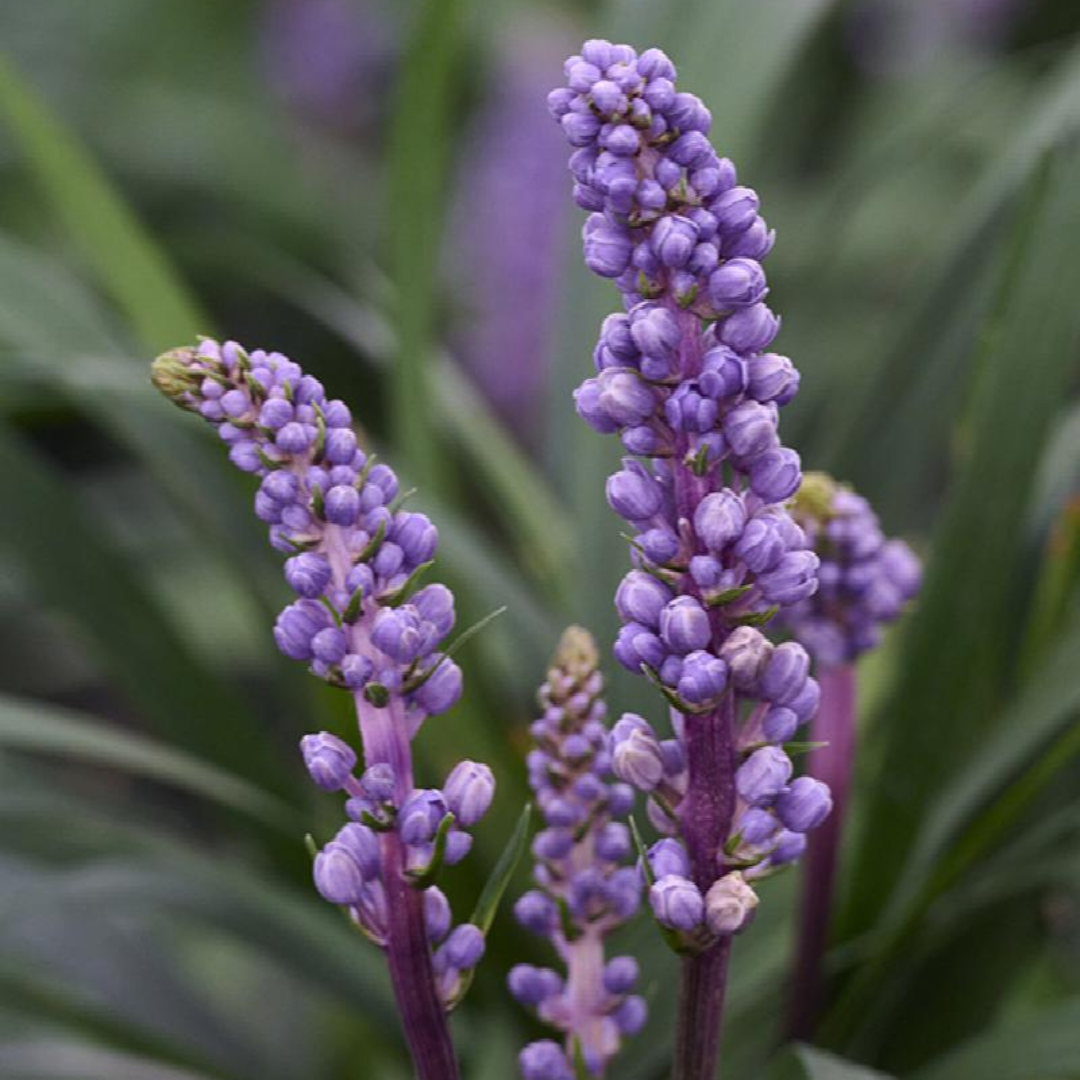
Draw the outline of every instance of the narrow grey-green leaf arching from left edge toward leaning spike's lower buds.
M0 694L0 746L62 756L170 784L292 833L296 813L238 777L172 746L57 705Z

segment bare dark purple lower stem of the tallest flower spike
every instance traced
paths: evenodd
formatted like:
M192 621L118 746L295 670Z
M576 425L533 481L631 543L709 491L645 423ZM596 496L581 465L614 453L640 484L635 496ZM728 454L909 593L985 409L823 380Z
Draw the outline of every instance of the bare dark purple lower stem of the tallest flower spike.
M720 874L720 847L735 805L734 693L705 716L687 716L690 782L679 807L683 836L698 888ZM731 939L683 960L674 1080L713 1080L720 1049L720 1018Z

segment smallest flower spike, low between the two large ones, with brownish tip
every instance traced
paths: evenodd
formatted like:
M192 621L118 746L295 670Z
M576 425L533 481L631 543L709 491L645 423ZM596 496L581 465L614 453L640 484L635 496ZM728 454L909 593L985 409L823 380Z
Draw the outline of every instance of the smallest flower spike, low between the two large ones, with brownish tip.
M552 942L566 975L518 964L510 972L510 990L565 1040L526 1047L524 1080L573 1080L579 1054L589 1075L602 1077L622 1038L645 1023L645 1001L631 993L637 962L604 959L604 939L637 910L642 880L626 865L630 829L618 819L634 793L612 782L597 664L591 635L567 630L540 688L543 713L531 728L529 784L546 827L532 845L539 888L518 900L515 914Z

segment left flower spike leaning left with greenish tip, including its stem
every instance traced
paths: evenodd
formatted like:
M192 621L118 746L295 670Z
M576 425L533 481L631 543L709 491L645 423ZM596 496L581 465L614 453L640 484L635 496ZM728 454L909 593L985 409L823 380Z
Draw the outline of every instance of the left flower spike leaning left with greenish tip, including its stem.
M442 791L414 787L413 738L461 693L461 672L442 651L454 597L437 584L413 591L438 535L423 514L395 508L397 477L357 446L345 403L281 353L203 340L160 356L152 377L259 478L255 513L288 556L297 594L274 626L278 647L353 697L360 775L355 751L336 735L300 742L311 779L341 792L351 819L315 856L315 887L384 949L418 1076L453 1080L445 1013L484 936L469 923L450 929L433 879L468 853L465 829L490 805L495 780L465 761Z

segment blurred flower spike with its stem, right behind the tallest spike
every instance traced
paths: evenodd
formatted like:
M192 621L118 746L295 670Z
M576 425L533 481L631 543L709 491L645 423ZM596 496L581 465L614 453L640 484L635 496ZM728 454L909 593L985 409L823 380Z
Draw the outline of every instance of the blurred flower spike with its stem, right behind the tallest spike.
M902 540L887 540L869 503L824 473L807 473L793 513L821 557L815 595L784 612L792 634L814 660L821 706L807 762L828 784L834 811L810 838L799 905L788 1031L809 1039L821 1009L836 865L855 761L855 661L880 639L918 592L921 567Z

